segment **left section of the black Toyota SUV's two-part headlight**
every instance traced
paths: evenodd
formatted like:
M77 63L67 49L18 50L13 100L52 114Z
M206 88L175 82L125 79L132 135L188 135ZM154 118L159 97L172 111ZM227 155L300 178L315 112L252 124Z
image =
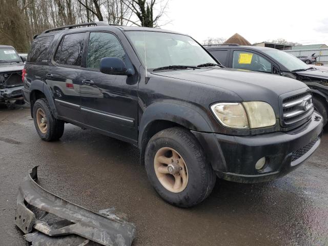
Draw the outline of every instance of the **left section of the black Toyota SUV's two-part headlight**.
M225 127L248 129L248 120L240 103L218 103L211 106L216 118Z

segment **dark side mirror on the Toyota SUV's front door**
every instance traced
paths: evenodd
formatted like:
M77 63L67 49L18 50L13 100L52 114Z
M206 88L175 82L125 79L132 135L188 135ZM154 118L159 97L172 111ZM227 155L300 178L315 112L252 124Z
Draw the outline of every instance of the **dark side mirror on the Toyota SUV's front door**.
M127 69L124 61L117 57L104 57L100 60L100 72L113 75L132 75L131 69Z

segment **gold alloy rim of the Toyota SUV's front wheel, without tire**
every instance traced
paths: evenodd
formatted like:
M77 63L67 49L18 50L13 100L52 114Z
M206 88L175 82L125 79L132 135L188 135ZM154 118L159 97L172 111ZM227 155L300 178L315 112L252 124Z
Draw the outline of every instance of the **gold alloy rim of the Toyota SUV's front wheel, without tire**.
M188 169L181 155L172 148L164 147L157 151L154 158L156 176L168 191L179 193L188 184Z

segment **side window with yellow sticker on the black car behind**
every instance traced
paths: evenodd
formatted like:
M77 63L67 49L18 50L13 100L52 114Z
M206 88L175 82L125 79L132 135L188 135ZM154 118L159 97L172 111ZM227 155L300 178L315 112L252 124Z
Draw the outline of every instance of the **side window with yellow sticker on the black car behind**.
M233 53L232 67L266 73L272 71L272 64L269 60L256 53L239 50Z

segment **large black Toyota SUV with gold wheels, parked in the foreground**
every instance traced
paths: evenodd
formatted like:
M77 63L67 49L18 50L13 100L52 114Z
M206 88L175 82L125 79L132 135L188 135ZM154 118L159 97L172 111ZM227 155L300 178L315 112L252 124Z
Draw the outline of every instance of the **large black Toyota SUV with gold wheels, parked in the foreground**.
M25 71L42 139L71 123L138 146L155 190L180 207L205 199L216 176L280 177L320 143L308 86L223 69L183 34L104 23L51 29L35 38Z

